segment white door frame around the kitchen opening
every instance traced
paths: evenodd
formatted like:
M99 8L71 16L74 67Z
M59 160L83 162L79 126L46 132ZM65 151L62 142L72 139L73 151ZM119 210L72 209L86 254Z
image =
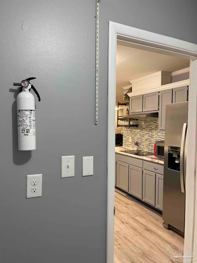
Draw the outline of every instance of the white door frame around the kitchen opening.
M108 31L108 87L107 87L107 254L106 262L114 262L114 192L115 192L115 96L116 96L116 41L117 38L147 48L158 48L165 54L190 59L190 88L188 109L188 165L186 183L186 220L184 249L194 252L195 234L195 177L197 145L197 45L183 40L155 34L138 28L109 21ZM161 52L162 52L161 51ZM172 53L171 53L172 54ZM189 176L188 176L189 175ZM197 195L196 195L197 196ZM196 210L197 211L197 210ZM195 224L196 223L196 224Z

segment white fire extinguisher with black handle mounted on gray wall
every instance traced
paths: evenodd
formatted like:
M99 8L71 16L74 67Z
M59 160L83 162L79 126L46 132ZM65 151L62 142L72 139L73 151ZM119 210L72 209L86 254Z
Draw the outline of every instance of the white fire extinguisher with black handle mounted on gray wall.
M17 118L18 118L18 150L27 151L36 149L36 124L35 124L35 99L30 93L30 89L38 96L40 95L35 87L30 84L30 80L36 78L27 78L21 83L13 83L14 86L20 86L20 93L17 101Z

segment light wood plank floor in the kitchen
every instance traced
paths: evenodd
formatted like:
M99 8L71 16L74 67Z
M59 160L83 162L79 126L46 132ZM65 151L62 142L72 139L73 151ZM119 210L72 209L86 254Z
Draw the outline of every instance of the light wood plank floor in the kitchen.
M164 228L162 217L117 192L115 208L114 263L175 262L166 250L183 249L184 238Z

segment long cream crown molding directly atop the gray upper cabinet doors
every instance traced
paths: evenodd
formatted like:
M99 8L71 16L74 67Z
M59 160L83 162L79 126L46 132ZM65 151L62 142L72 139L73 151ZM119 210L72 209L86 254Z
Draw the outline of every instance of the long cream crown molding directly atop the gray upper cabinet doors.
M147 94L147 93L151 93L151 92L155 92L155 91L162 91L162 90L167 90L167 89L171 89L171 88L183 87L183 86L189 85L189 82L190 82L190 80L182 80L182 81L162 85L162 86L155 87L155 88L148 88L148 89L144 89L144 90L140 90L140 91L136 91L136 92L130 92L130 93L127 93L127 95L129 97L133 97L133 96L143 95L143 94Z

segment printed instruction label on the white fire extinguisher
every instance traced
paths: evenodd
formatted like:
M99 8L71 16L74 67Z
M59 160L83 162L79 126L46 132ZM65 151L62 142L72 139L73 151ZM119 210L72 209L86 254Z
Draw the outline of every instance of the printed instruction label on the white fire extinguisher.
M18 117L18 136L35 136L35 110L34 109L19 109L17 110Z

